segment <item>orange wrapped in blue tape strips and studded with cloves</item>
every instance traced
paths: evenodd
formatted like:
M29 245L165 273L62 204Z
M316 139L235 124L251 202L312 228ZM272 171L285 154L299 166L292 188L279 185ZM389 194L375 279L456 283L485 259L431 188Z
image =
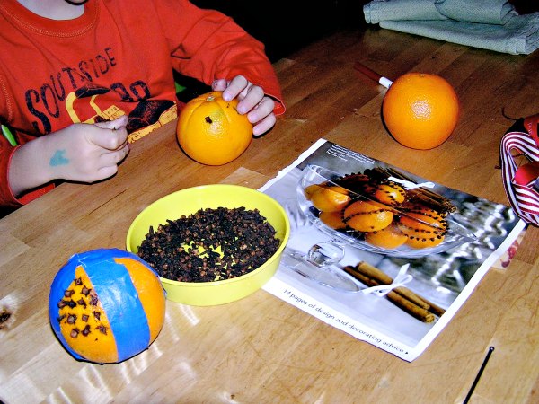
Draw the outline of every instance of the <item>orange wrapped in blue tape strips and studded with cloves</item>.
M78 360L112 364L136 356L157 338L164 311L155 270L124 250L75 254L50 287L52 329Z

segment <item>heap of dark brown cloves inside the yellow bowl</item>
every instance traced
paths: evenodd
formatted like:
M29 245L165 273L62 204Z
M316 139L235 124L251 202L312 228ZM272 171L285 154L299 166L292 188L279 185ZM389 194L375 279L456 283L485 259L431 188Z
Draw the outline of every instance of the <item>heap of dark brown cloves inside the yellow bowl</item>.
M138 256L160 277L180 282L213 282L240 277L261 267L278 250L273 226L258 209L200 209L150 227Z

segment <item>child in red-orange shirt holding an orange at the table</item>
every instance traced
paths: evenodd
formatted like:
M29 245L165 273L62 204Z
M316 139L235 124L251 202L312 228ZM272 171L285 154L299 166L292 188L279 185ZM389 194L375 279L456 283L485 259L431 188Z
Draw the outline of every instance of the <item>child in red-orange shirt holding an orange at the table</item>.
M114 175L176 118L173 70L237 98L254 136L284 111L262 44L187 0L5 0L0 26L0 122L19 143L0 139L0 206Z

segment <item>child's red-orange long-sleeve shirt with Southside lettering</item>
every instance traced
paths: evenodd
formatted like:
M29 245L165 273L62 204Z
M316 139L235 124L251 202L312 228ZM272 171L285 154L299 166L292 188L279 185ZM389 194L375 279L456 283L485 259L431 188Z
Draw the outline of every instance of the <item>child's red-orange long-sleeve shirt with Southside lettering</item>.
M68 21L4 0L0 27L0 120L19 144L122 114L130 141L146 136L176 118L173 69L207 84L244 75L284 112L263 45L231 18L186 0L90 0ZM13 151L0 136L0 206L33 196L17 199L9 189Z

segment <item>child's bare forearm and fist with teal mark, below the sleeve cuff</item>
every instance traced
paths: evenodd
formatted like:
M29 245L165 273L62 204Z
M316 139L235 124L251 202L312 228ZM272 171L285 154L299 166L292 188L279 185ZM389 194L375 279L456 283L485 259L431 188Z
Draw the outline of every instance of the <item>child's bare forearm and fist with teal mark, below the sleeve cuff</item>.
M118 171L128 154L127 117L97 124L74 124L18 147L9 168L15 197L51 180L94 182Z

